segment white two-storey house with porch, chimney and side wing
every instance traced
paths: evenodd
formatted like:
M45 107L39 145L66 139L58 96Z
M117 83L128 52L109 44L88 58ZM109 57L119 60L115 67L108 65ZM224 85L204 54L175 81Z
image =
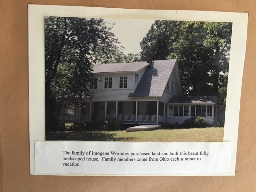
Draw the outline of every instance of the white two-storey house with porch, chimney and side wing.
M111 63L93 66L90 84L92 101L86 98L74 105L74 113L64 114L69 94L62 95L62 123L99 122L117 117L123 123L174 124L191 116L203 116L205 122L217 122L217 96L183 97L177 60Z

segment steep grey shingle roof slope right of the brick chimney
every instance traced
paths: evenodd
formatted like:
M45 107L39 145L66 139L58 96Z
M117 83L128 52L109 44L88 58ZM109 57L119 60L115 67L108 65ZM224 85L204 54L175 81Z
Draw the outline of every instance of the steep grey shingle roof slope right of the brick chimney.
M161 97L175 63L176 59L154 61L129 97Z

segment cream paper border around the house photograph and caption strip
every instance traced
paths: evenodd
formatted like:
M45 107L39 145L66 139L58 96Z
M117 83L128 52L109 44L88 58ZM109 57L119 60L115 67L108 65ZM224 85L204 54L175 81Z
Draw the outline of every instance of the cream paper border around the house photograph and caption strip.
M35 141L45 140L44 16L140 20L185 20L232 22L224 142L231 142L229 173L235 175L241 86L244 68L248 13L135 10L57 5L28 5L29 140L30 174L35 173ZM54 142L54 141L53 141ZM67 141L72 142L72 141ZM94 141L106 142L106 141ZM40 173L42 175L42 173ZM47 174L45 175L52 175ZM55 174L70 175L70 174ZM88 175L88 174L72 174ZM127 174L126 174L127 175ZM144 174L141 174L144 175ZM175 175L212 175L201 173Z

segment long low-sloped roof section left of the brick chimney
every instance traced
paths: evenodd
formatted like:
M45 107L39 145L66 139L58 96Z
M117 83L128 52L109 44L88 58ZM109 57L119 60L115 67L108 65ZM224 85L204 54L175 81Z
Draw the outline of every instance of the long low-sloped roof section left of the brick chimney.
M134 63L95 64L93 65L93 73L136 72L148 65L149 63L146 61Z

